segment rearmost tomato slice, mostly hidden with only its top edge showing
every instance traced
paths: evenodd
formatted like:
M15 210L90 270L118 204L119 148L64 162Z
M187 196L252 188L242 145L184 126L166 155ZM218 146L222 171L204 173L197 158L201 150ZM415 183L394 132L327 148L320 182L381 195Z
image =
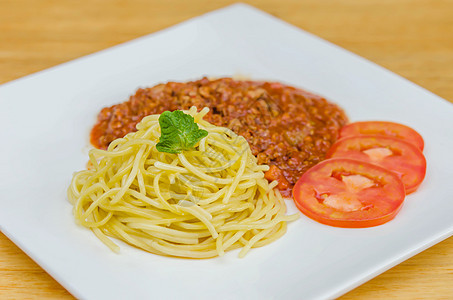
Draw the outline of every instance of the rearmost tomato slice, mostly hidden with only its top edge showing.
M425 142L414 129L398 123L384 121L354 122L340 130L340 138L357 135L383 135L402 139L417 146L421 151Z

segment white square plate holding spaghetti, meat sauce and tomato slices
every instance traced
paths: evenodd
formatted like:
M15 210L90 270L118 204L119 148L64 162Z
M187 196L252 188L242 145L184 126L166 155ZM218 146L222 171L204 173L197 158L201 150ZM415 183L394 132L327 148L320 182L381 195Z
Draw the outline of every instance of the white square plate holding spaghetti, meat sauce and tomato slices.
M407 124L425 138L426 179L387 224L342 229L302 216L244 259L112 253L75 224L66 198L97 113L138 87L203 75L280 81L338 103L352 121ZM453 233L453 105L243 4L4 84L0 124L1 230L79 298L332 298Z

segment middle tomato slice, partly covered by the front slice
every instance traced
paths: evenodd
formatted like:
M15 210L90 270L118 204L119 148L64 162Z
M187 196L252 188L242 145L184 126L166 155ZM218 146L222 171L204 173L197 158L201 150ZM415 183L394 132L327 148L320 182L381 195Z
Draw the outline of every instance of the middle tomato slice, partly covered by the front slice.
M361 160L394 171L403 181L406 194L414 192L426 174L426 159L420 149L393 137L375 135L345 137L332 145L326 157Z

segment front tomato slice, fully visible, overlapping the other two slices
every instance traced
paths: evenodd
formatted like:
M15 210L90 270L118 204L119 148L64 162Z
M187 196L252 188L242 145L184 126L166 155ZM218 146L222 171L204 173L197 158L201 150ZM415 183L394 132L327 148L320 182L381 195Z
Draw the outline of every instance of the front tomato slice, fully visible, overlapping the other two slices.
M371 227L392 220L404 201L399 177L367 162L333 158L310 168L293 189L306 216L336 227Z

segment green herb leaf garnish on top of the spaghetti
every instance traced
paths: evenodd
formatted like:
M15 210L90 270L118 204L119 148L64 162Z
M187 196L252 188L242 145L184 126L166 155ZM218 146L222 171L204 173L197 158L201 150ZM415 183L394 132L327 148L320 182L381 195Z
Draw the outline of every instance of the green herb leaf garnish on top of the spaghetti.
M180 110L173 112L165 111L159 117L160 139L156 148L159 152L181 153L183 150L190 150L208 132L199 129L191 115Z

